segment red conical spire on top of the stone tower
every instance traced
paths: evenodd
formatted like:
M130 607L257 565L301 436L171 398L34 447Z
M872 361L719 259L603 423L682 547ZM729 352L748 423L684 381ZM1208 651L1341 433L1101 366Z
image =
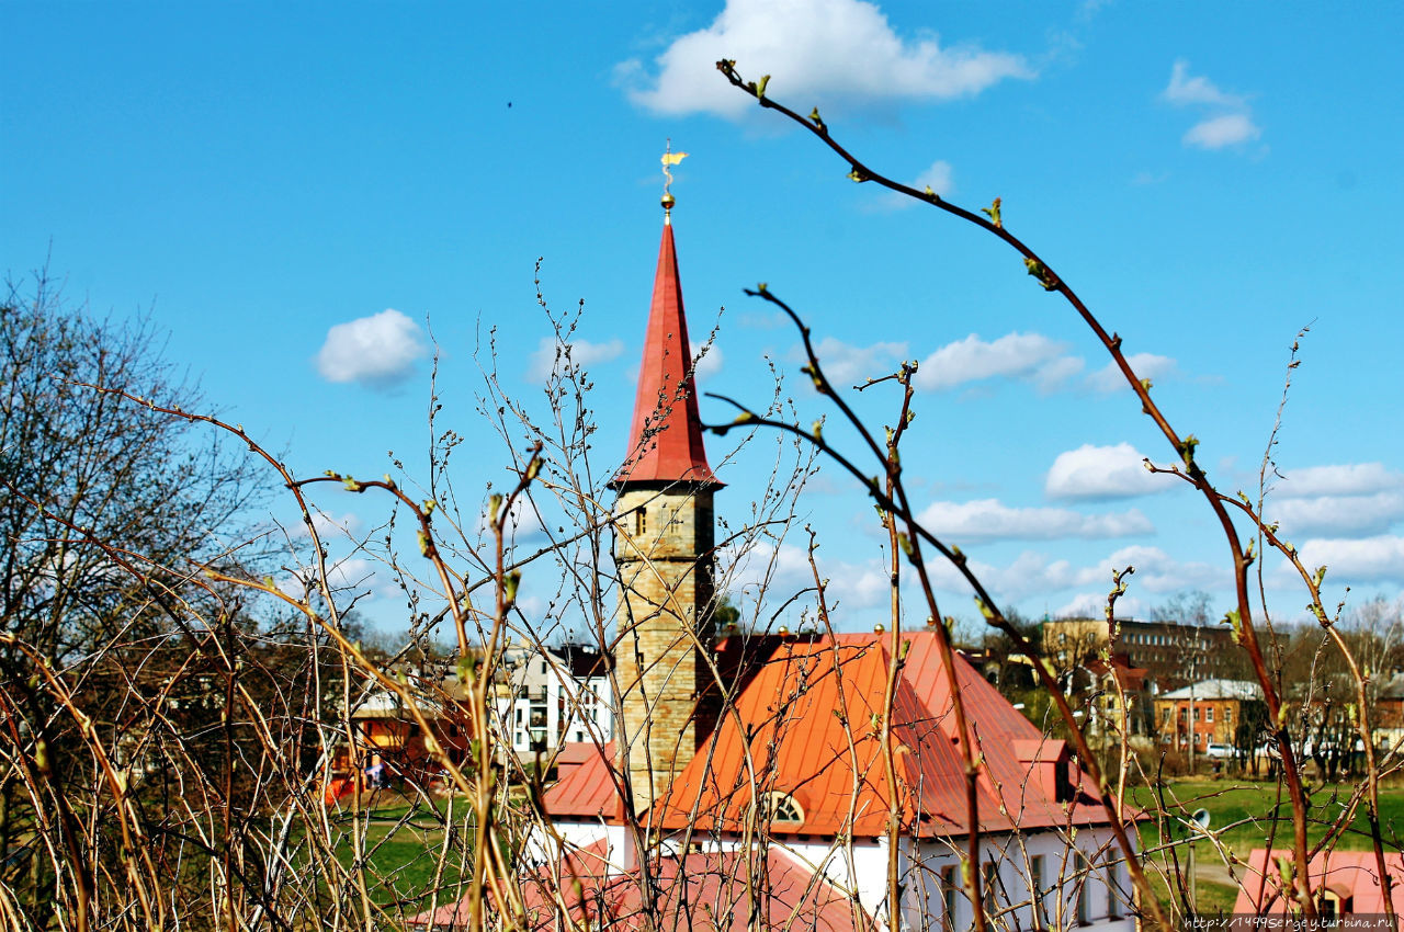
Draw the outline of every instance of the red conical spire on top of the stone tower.
M673 206L664 198L664 208ZM682 310L678 254L670 212L663 216L658 271L653 277L653 307L633 403L629 458L612 486L625 483L699 483L720 486L706 465L702 420L692 382L692 347Z

